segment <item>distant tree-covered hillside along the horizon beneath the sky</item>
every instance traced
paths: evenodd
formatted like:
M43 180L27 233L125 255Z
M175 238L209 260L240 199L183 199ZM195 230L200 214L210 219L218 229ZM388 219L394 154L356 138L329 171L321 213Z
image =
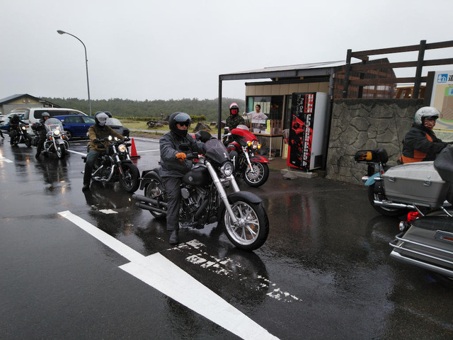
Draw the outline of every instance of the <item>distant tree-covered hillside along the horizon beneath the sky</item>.
M63 108L74 108L88 113L88 100L79 98L43 98ZM229 104L236 102L240 112L245 111L245 101L235 98L222 98L222 118L229 115ZM181 111L190 115L205 115L207 120L217 120L217 99L171 99L169 101L132 101L129 99L112 98L91 101L91 112L110 111L118 117L168 117L171 113Z

